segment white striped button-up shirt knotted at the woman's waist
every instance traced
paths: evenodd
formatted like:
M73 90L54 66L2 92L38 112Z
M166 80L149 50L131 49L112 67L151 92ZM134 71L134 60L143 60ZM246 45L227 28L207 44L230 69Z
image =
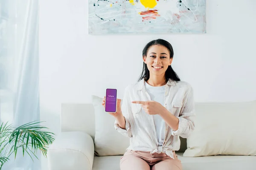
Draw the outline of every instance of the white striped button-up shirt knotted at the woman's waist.
M125 117L125 129L115 121L119 133L130 137L129 150L146 151L151 153L166 153L174 159L173 150L180 149L180 138L187 138L195 128L195 104L193 90L184 81L169 81L165 85L164 107L179 119L178 130L172 130L165 123L165 140L163 146L158 146L157 134L153 115L142 111L140 104L132 101L151 100L145 90L145 80L128 85L122 101L122 114Z

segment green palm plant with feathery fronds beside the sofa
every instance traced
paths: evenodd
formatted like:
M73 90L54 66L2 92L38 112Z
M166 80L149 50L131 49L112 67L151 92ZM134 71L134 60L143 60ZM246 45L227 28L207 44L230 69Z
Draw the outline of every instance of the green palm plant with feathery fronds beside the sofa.
M10 156L14 154L15 159L17 150L22 149L23 156L27 153L31 159L36 156L38 150L47 157L47 145L55 140L54 133L45 131L47 127L38 125L41 122L29 122L25 125L15 128L7 123L0 126L0 170ZM34 160L33 160L34 161Z

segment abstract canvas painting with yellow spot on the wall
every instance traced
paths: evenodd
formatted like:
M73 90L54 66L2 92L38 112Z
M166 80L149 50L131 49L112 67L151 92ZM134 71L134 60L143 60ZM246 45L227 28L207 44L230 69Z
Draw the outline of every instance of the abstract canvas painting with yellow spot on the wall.
M206 0L89 0L89 34L206 33Z

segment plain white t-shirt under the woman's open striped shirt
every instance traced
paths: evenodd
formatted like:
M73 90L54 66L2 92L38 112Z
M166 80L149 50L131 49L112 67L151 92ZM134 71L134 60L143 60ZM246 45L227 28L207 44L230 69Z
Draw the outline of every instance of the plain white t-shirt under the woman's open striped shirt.
M147 82L145 82L145 89L148 92L151 100L159 102L163 106L164 106L164 95L165 95L164 87L165 86L154 87L149 85ZM154 119L155 129L157 132L158 146L162 146L164 141L164 136L165 136L165 122L163 118L158 114L153 115L153 119Z

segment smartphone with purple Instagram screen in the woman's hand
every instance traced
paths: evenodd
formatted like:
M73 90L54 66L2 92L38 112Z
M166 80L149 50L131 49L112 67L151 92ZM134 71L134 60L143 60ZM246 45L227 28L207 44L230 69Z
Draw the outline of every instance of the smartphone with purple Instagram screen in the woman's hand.
M106 89L105 111L116 113L116 94L117 90L112 88Z

